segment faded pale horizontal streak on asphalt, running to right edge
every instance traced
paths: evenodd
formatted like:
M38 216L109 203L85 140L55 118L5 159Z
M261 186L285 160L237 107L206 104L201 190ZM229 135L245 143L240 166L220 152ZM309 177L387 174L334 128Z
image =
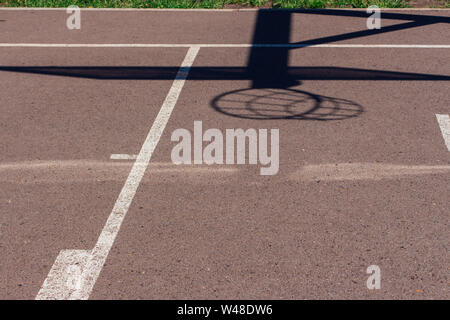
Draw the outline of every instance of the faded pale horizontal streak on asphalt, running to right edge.
M450 165L402 165L383 163L330 163L303 166L293 176L296 180L340 181L382 180L408 175L449 174Z

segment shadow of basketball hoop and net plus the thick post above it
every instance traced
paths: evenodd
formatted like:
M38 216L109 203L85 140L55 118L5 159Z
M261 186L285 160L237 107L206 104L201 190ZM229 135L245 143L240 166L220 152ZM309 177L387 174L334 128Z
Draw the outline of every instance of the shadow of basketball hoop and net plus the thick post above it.
M363 108L350 100L293 89L301 84L289 70L291 11L259 10L245 76L251 87L230 91L211 101L223 114L244 119L342 120L357 117ZM272 44L280 44L271 47Z

